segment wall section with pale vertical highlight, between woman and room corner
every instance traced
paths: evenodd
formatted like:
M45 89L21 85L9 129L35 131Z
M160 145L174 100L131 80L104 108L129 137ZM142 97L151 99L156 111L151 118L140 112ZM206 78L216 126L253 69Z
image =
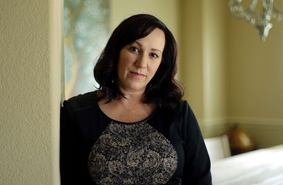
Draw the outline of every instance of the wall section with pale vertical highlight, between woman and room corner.
M181 79L205 137L227 123L226 1L181 1Z

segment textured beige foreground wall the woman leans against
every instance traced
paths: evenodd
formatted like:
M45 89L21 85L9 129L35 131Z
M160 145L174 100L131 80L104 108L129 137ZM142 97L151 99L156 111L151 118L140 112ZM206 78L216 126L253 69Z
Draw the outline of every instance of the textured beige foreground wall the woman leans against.
M49 3L0 1L0 184L59 184L58 131L53 129L58 129L60 89L51 80L55 7ZM56 110L52 99L57 99Z

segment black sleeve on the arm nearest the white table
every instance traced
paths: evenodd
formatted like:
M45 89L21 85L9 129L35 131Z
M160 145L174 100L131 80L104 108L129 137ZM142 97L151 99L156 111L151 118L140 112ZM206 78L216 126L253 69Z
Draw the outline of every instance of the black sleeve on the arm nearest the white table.
M187 101L183 105L182 132L185 154L183 184L211 185L209 155L197 119Z

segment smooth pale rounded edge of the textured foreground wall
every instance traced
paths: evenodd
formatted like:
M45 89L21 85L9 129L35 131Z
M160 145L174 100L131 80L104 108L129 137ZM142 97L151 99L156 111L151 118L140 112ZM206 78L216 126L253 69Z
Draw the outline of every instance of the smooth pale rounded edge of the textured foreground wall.
M59 140L60 140L60 101L65 99L64 78L64 11L63 1L50 0L50 104L52 128L52 182L60 184Z

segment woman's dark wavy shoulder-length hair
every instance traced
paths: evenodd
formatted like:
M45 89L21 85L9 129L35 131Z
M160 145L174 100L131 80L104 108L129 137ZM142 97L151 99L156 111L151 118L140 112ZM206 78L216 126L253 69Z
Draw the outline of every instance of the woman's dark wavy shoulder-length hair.
M116 99L117 94L126 98L117 87L117 63L120 51L130 43L149 35L154 29L159 28L165 34L165 46L162 53L160 66L145 88L142 98L143 103L153 103L155 111L161 109L173 110L183 97L184 90L177 74L178 48L176 40L169 29L156 17L148 14L133 15L122 21L113 31L104 50L94 67L94 78L98 82L99 93L96 101Z

